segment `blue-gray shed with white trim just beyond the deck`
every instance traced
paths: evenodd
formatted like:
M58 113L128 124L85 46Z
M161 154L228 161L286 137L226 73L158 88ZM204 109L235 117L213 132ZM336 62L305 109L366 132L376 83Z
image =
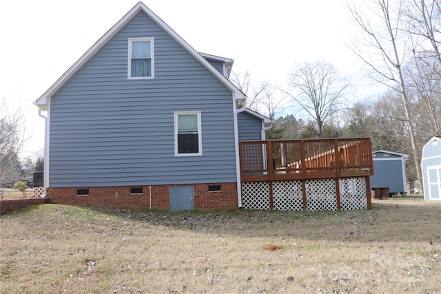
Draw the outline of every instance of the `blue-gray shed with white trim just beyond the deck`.
M372 152L372 188L388 188L390 194L406 193L406 169L404 161L407 154L378 150Z

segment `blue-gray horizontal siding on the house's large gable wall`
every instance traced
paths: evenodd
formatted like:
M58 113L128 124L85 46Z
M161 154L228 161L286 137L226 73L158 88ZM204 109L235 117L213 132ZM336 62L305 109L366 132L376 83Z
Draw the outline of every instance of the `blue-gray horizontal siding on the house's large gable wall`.
M153 79L127 79L134 37L154 37ZM232 92L143 12L50 103L50 187L236 182ZM176 111L201 111L203 156L174 156Z

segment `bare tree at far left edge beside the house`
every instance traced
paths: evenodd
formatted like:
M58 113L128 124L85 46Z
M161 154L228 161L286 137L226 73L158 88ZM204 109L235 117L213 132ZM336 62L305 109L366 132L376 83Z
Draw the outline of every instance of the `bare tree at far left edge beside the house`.
M0 188L3 181L19 176L19 150L25 139L21 135L24 129L24 116L20 109L8 107L6 98L0 102Z

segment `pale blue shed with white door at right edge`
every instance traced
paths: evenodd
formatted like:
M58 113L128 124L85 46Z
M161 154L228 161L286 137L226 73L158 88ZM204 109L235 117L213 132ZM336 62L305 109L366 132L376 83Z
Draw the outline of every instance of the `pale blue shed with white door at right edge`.
M424 200L441 200L441 137L435 136L422 148Z

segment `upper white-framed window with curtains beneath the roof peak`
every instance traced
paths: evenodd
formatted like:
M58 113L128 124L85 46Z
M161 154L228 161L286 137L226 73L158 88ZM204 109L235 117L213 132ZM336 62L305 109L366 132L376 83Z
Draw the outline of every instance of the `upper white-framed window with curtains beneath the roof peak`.
M128 78L154 77L154 39L129 39Z

